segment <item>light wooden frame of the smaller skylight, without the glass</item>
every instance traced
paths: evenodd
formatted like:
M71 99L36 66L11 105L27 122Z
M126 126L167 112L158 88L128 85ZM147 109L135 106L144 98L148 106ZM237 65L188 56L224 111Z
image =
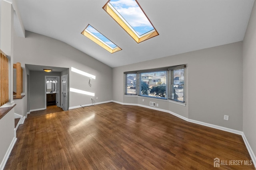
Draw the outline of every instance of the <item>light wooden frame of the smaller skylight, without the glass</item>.
M102 41L99 37L97 37L96 35L94 35L92 32L90 32L87 28L89 27L90 24L88 24L85 29L81 32L82 35L86 36L87 38L89 38L90 40L94 41L94 43L100 45L102 48L104 48L105 50L107 50L110 53L115 53L117 51L122 50L120 47L118 47L115 43L113 43L113 41L111 41L110 39L108 39L105 35L103 35L102 33L100 33L100 31L98 31L97 29L95 29L92 25L90 25L93 29L95 29L96 31L98 31L98 33L100 33L101 35L103 35L106 39L108 39L109 41L111 41L114 45L116 45L116 47L112 48L110 45L108 45L106 42Z

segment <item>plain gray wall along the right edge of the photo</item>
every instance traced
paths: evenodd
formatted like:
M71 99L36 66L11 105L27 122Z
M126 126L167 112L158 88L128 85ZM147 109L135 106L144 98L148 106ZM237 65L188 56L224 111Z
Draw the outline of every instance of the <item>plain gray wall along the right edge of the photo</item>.
M243 131L256 154L256 3L243 42Z

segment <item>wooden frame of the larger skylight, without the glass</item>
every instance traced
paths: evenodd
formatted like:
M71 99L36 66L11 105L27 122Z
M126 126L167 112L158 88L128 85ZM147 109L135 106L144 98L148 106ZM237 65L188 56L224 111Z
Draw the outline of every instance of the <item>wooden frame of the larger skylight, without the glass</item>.
M148 16L145 14L145 12L142 10L140 4L137 0L135 2L138 4L140 10L142 10L143 14L146 16L152 27L153 30L144 33L142 35L138 35L138 33L130 26L130 24L117 12L117 10L109 3L110 0L102 7L137 43L140 43L142 41L145 41L147 39L150 39L152 37L155 37L159 35L159 33L156 31L154 25L149 20Z

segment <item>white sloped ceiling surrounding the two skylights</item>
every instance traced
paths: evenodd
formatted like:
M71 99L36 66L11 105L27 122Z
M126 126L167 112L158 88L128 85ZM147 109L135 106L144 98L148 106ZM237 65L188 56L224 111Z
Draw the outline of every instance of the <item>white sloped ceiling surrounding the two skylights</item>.
M136 43L102 7L107 0L17 0L24 27L111 67L242 41L254 0L138 0L159 35ZM122 50L109 53L81 32L92 25Z

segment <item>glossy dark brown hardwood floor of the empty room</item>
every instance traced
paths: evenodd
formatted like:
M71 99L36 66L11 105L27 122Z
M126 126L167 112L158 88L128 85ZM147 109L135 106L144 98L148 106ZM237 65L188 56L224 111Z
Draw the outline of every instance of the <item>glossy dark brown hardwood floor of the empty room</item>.
M243 139L169 113L108 103L30 117L17 130L6 170L254 169Z

